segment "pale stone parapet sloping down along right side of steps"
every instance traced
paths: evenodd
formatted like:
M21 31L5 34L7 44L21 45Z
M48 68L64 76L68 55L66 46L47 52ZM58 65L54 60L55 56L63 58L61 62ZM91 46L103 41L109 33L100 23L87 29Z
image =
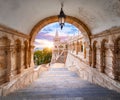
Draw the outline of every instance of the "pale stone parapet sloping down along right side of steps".
M72 71L76 71L84 80L120 92L120 82L111 79L106 74L99 72L96 68L85 64L78 56L72 53L68 53L66 67Z

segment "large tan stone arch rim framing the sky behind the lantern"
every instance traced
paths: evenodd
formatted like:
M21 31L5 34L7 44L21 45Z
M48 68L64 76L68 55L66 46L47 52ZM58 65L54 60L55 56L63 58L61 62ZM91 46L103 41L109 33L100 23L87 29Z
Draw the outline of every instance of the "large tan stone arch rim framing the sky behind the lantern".
M83 34L86 41L89 42L89 45L91 45L91 40L90 40L91 32L88 29L87 25L85 25L81 20L79 20L75 17L72 17L72 16L66 16L65 21L67 23L70 23L70 24L76 26ZM41 20L40 22L38 22L33 27L32 31L30 33L30 48L29 48L29 53L30 53L29 63L31 66L34 65L34 63L33 63L33 50L34 50L33 44L34 44L34 40L35 40L36 35L44 26L46 26L50 23L54 23L54 22L58 22L58 16L47 17L47 18Z

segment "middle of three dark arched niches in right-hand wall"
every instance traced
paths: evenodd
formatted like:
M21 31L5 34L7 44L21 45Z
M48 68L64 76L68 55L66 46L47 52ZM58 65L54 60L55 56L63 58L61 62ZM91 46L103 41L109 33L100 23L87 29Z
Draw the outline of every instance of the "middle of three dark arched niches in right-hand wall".
M106 46L105 43L108 43L107 39L103 39L101 42L101 48L100 48L100 71L102 73L105 72L105 68L106 68Z

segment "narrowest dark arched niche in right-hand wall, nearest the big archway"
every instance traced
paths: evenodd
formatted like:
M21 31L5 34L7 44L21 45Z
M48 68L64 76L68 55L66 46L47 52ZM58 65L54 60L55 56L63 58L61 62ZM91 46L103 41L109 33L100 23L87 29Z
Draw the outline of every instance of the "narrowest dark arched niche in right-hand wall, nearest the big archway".
M93 42L93 46L92 46L92 66L93 68L96 68L96 59L97 59L97 41Z

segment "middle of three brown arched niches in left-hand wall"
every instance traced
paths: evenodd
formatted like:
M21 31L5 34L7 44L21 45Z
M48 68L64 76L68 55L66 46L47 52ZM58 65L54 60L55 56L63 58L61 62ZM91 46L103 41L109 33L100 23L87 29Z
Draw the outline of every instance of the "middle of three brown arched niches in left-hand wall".
M16 62L16 74L21 73L21 41L17 39L15 41L15 62Z

